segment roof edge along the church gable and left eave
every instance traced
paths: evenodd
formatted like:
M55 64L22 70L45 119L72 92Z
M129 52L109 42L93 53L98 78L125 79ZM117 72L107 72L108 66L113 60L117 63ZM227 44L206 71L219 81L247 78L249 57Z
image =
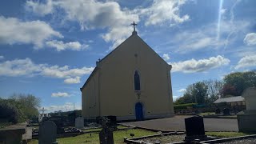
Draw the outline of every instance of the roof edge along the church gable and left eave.
M137 34L137 31L133 31L132 35L131 35L129 38L134 37L134 36L137 36L138 38L140 38L140 37L138 36L138 34ZM124 42L126 42L129 38L127 38ZM140 38L140 39L142 39L142 38ZM98 64L101 63L102 61L104 61L107 57L109 57L110 54L113 54L115 50L118 50L118 48L121 47L124 42L122 42L117 48L115 48L114 50L112 50L109 54L106 54L106 56L105 56L104 58L102 58L102 59L98 62ZM144 42L143 39L142 39L142 42ZM145 43L146 46L148 46L151 50L153 50L146 42L144 42L144 43ZM156 53L154 50L153 50L153 52ZM157 54L157 53L156 53L156 54ZM157 55L158 55L158 54L157 54ZM158 57L161 58L159 55L158 55ZM162 58L161 58L161 59L162 59ZM163 60L163 59L162 59L162 60ZM166 62L165 60L163 60L163 61ZM166 62L166 64L169 65L167 62ZM86 80L86 82L84 83L84 85L82 86L82 88L80 88L81 91L82 91L82 89L86 86L86 84L90 81L90 78L92 78L93 75L97 72L97 70L98 70L98 67L96 66L96 67L94 68L93 72L90 74L89 78L87 78L87 80Z

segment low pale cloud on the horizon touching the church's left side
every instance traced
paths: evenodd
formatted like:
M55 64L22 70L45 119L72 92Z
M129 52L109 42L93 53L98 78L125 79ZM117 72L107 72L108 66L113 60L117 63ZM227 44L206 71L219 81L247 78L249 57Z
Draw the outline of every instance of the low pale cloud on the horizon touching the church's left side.
M58 110L62 111L70 111L70 110L81 110L82 109L82 104L81 103L72 103L72 102L66 102L63 105L52 105L52 106L45 106L45 109L47 112L54 112Z

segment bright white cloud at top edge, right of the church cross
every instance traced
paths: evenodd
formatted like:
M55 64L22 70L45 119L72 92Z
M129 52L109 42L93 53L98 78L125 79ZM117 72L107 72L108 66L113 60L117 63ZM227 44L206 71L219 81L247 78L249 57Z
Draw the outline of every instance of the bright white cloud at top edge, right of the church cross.
M173 26L178 23L186 22L190 19L188 14L183 15L182 17L179 16L179 8L185 3L186 0L154 0L151 6L139 11L143 17L146 17L146 26L162 25L164 22Z

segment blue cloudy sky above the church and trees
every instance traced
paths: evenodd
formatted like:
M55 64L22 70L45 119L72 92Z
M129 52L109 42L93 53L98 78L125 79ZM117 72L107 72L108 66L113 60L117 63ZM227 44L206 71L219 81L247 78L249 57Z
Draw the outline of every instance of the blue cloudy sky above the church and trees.
M194 82L256 69L254 0L2 0L0 97L81 109L98 58L138 35L173 66L174 99Z

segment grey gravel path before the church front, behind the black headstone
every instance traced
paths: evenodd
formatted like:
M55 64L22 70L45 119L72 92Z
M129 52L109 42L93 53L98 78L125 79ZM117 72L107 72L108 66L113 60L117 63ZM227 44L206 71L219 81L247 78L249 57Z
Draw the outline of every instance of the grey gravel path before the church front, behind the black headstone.
M124 122L125 126L138 126L147 129L163 131L184 131L185 118L191 116L175 116L173 118L160 118L140 122ZM203 118L206 131L238 131L236 118Z

